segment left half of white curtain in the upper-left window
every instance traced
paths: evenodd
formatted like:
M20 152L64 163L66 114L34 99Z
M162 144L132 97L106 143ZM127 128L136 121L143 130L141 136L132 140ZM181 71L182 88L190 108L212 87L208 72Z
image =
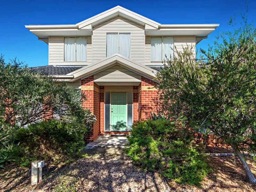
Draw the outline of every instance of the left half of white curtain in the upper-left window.
M75 37L64 38L64 61L75 61Z

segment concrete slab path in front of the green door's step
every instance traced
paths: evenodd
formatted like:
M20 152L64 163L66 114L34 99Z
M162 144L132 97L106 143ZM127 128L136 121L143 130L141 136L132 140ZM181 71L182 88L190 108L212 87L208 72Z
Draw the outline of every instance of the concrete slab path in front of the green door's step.
M86 147L124 148L127 143L126 136L99 135L93 142L88 143Z

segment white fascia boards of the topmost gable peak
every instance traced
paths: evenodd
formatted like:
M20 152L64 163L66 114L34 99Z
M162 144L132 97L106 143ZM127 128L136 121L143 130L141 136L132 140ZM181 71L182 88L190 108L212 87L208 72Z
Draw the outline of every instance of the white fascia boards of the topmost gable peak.
M135 12L132 12L128 9L125 9L121 6L116 6L112 9L109 9L105 12L102 12L98 15L95 15L89 19L86 19L84 21L81 21L79 23L77 23L76 25L79 27L79 28L83 28L89 24L92 24L92 25L97 25L105 20L109 20L111 17L115 17L117 15L120 15L122 17L127 17L129 20L132 20L134 22L138 22L141 24L141 23L147 23L148 25L152 26L152 27L155 27L155 28L158 28L161 24L160 23L157 23L153 20L150 20L146 17L143 17L142 15L139 15Z

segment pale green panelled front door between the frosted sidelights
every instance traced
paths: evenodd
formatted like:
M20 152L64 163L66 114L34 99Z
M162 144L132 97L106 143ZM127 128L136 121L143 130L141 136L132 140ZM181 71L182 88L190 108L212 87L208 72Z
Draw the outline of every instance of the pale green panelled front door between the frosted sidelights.
M126 131L126 92L111 92L111 131Z

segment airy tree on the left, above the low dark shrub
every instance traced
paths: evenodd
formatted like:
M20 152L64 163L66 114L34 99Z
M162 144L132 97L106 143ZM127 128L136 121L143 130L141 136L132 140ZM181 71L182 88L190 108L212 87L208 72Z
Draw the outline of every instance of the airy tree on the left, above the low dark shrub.
M11 128L47 118L88 127L95 117L82 107L85 99L66 83L55 85L48 75L29 70L16 59L6 63L0 57L0 141L10 136ZM74 127L69 131L76 132Z

